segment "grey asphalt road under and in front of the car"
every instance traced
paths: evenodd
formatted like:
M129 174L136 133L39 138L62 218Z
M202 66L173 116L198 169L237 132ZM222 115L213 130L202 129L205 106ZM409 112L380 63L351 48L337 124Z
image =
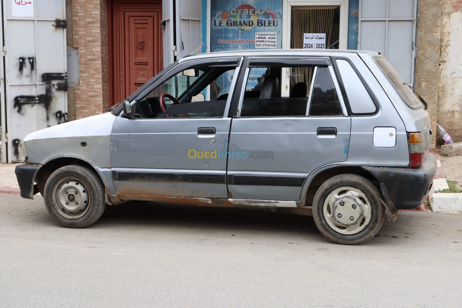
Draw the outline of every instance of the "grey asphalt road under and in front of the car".
M0 194L1 307L461 307L461 254L461 215L400 212L343 246L264 209L126 203L67 229Z

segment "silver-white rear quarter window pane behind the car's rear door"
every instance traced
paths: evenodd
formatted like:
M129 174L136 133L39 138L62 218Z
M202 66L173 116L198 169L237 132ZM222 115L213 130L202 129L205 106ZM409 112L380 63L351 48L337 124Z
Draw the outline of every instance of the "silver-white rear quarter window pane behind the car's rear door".
M375 113L377 107L350 63L340 59L336 60L336 62L350 103L351 112L356 114Z

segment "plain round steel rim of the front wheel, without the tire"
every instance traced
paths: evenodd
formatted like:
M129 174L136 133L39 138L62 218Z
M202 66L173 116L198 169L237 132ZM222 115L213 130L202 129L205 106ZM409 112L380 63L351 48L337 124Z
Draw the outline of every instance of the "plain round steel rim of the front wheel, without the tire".
M52 197L56 211L68 219L84 216L91 201L88 188L75 177L59 180L53 187Z

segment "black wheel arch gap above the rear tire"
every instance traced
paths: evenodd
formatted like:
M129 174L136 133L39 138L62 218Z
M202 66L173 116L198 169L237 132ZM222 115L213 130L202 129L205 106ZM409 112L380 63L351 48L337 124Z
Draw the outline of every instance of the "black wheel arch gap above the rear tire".
M361 166L332 166L330 168L320 170L313 176L305 191L302 204L304 204L304 206L312 206L314 196L318 191L319 186L321 186L326 180L344 173L361 175L366 179L369 179L374 185L377 185L378 190L381 191L380 184L377 179Z

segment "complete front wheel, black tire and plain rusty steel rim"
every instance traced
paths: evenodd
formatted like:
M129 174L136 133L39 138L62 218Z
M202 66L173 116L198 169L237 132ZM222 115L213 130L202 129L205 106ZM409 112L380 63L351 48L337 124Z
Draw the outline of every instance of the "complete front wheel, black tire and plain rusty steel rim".
M84 228L96 222L103 215L104 197L99 176L79 165L64 166L53 172L44 189L49 214L66 228Z

